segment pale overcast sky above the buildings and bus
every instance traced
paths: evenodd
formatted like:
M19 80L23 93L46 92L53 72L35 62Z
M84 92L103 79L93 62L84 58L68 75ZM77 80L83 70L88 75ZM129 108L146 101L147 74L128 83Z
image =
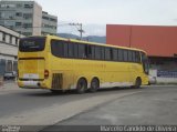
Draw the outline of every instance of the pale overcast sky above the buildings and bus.
M177 26L177 0L35 0L58 16L58 32L105 35L106 24Z

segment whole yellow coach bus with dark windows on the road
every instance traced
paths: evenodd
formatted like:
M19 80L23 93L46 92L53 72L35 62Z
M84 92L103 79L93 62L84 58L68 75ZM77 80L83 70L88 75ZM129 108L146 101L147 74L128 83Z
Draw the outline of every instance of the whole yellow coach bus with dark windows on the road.
M148 84L146 52L55 35L22 38L18 53L18 85L73 90Z

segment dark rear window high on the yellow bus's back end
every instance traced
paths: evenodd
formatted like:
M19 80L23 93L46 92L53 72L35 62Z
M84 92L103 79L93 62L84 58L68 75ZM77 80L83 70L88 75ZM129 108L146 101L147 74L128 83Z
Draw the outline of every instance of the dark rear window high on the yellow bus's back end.
M21 52L43 51L45 38L23 38L20 40L19 50Z

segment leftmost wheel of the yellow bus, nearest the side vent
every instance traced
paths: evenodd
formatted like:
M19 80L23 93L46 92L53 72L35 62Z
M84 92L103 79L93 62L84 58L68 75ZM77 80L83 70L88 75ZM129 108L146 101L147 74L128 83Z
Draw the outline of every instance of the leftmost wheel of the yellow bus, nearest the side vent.
M86 89L87 89L87 84L85 79L80 79L76 85L76 92L82 94L86 91Z

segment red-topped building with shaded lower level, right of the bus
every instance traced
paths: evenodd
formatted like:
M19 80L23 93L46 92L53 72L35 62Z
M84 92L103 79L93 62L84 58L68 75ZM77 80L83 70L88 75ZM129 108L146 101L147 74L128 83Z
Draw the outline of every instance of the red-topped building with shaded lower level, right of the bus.
M153 74L177 82L177 27L107 24L106 43L145 50Z

